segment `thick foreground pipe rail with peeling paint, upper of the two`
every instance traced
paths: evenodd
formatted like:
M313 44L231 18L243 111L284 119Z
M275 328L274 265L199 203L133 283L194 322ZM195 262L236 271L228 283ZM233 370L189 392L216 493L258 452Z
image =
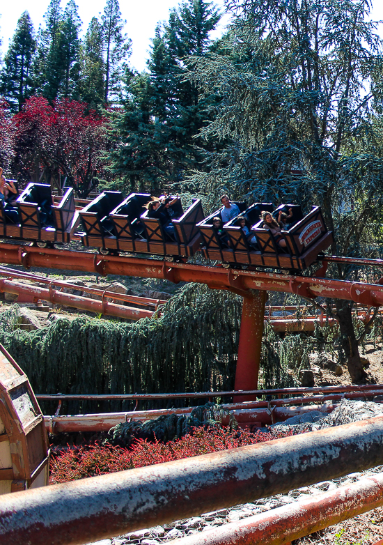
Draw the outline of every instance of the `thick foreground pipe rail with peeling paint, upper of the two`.
M73 545L272 496L383 463L383 417L8 494L0 544Z

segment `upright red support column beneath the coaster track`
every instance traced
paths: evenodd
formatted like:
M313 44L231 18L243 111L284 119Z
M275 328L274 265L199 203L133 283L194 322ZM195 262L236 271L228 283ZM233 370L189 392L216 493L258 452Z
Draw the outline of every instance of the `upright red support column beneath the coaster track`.
M250 291L249 295L243 298L235 390L256 390L258 387L266 299L267 291L264 290ZM253 399L255 399L253 396L234 397L236 403Z

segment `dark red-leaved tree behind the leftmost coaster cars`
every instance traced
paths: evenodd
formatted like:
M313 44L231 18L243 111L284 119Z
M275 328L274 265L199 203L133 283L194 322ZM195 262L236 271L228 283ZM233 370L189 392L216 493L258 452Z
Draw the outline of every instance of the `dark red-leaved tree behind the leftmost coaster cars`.
M86 198L102 176L106 119L87 111L84 102L64 99L51 105L33 97L13 123L15 167L22 178L49 183L60 193L64 185L74 187Z

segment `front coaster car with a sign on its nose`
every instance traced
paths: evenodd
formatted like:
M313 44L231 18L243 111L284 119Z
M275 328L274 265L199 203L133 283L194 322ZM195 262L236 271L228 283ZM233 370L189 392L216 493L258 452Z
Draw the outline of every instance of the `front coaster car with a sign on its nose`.
M281 247L272 233L265 229L263 220L260 220L260 212L263 210L272 213L278 217L279 211L285 211L289 214L290 229L282 230L281 236L286 240L286 247ZM250 206L241 214L245 217L246 224L250 230L250 236L246 236L240 227L237 217L224 225L224 231L227 235L226 247L224 244L217 244L217 236L204 236L205 246L202 252L208 259L218 259L224 262L224 266L260 266L267 268L281 268L288 270L304 270L313 263L320 252L326 250L332 243L332 233L327 231L325 221L323 220L320 207L315 206L310 213L302 217L302 210L299 205L281 205L272 211L272 204L256 203ZM215 214L217 215L217 214ZM214 215L210 216L211 220ZM207 232L204 224L198 224ZM251 225L254 220L256 224ZM211 221L210 221L211 223ZM213 231L210 225L210 231ZM256 238L256 242L250 240Z

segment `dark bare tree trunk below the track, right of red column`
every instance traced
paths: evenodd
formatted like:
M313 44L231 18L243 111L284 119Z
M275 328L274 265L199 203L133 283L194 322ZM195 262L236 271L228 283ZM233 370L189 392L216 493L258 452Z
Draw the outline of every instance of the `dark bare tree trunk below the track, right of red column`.
M351 305L349 301L336 300L339 329L341 330L341 348L347 360L347 369L352 383L362 383L366 378L363 363L359 354L359 346L352 323Z

